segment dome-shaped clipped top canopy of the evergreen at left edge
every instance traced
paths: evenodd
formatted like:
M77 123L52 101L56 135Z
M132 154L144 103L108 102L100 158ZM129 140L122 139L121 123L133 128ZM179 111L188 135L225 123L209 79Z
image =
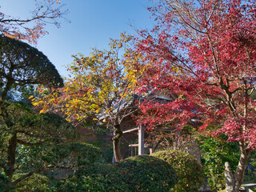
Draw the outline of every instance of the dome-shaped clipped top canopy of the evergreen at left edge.
M19 86L63 86L58 70L46 55L25 42L4 35L0 35L0 78L2 82Z

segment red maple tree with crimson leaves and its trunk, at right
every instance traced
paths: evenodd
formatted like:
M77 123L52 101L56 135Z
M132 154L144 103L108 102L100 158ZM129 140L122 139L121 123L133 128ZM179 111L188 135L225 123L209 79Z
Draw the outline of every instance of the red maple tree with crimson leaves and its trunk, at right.
M178 98L144 102L140 121L178 129L200 121L202 130L214 125L212 134L239 142L238 191L256 147L256 1L164 0L149 10L158 24L140 31L137 49L150 63L140 91Z

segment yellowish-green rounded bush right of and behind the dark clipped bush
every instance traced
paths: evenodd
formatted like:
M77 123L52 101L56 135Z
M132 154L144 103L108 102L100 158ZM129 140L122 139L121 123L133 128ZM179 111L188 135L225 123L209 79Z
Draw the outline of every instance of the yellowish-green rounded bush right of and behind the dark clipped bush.
M177 192L198 191L204 180L202 166L190 154L181 150L162 150L152 156L168 162L178 177L178 184L174 186Z

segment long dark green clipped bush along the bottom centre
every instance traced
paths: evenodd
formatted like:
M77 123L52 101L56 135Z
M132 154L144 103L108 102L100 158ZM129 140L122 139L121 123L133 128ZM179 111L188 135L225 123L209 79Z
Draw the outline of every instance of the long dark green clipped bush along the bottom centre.
M78 170L58 191L170 191L176 175L170 164L147 155L127 158L115 164L101 164Z

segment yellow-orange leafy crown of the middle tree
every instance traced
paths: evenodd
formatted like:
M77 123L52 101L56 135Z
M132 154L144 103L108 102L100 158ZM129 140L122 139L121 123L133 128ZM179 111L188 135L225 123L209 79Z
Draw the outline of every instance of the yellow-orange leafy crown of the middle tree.
M121 34L110 38L109 50L92 49L89 56L73 55L68 67L70 78L59 90L42 91L34 102L43 106L41 112L62 113L72 121L96 120L100 114L110 114L114 105L133 94L143 71L142 55L130 50L132 36Z

